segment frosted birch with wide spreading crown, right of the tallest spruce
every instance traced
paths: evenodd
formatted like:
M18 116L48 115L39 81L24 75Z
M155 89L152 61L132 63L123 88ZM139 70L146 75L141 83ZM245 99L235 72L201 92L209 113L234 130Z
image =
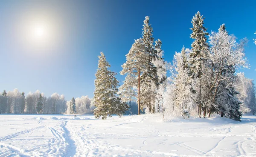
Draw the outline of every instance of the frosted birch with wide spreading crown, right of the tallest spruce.
M225 25L221 25L218 32L211 33L209 37L211 74L207 74L212 80L209 81L208 89L209 117L212 110L218 108L215 100L221 81L228 82L233 79L233 71L237 68L248 67L247 58L244 55L244 45L246 43L246 39L237 43L236 37L227 33ZM227 74L229 71L232 72Z

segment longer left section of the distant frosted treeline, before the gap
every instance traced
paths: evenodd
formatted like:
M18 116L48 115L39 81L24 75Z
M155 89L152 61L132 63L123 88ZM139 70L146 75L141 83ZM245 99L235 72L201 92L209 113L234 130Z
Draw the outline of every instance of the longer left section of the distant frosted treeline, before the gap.
M17 88L13 91L6 90L0 96L0 113L4 114L64 114L67 110L67 101L64 95L58 93L45 97L39 90L29 92L26 97L24 92Z

